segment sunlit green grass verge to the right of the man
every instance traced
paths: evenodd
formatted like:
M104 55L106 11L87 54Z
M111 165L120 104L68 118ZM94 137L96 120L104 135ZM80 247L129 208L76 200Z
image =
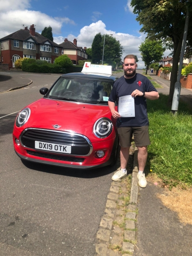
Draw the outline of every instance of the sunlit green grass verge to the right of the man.
M179 111L173 115L168 96L159 95L157 101L147 100L151 145L146 175L152 169L170 187L192 186L192 110L179 102Z

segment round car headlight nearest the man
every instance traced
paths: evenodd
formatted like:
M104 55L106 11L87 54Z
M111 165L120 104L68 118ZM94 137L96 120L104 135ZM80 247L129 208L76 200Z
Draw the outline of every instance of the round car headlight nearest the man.
M93 133L98 138L106 138L110 135L113 129L113 123L110 119L103 117L99 118L93 128Z

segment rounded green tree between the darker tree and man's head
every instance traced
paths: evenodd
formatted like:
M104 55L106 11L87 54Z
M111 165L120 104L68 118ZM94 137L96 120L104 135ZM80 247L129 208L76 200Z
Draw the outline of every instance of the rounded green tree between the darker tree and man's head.
M105 36L105 45L104 45L104 62L109 63L110 61L114 61L117 64L121 61L121 57L123 54L123 47L121 46L119 40L116 40L112 35L102 35L101 41L101 51L103 52L103 44L104 44L104 36Z

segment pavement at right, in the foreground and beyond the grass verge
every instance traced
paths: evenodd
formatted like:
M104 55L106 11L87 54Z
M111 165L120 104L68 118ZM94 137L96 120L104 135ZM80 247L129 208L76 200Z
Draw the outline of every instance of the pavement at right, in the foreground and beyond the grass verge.
M152 75L164 88L159 93L169 94L170 81ZM192 90L181 88L180 99L192 106ZM147 179L147 176L146 176ZM166 196L168 189L147 181L139 187L138 217L136 222L137 247L134 256L192 256L192 225L179 221L178 214L168 209L158 195Z

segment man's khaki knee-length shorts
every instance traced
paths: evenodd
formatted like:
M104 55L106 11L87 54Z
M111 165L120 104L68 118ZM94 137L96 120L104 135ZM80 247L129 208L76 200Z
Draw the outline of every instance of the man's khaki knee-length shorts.
M128 148L131 146L132 135L134 135L134 141L136 147L148 146L151 144L149 140L149 127L119 127L117 128L119 135L119 144L122 148Z

